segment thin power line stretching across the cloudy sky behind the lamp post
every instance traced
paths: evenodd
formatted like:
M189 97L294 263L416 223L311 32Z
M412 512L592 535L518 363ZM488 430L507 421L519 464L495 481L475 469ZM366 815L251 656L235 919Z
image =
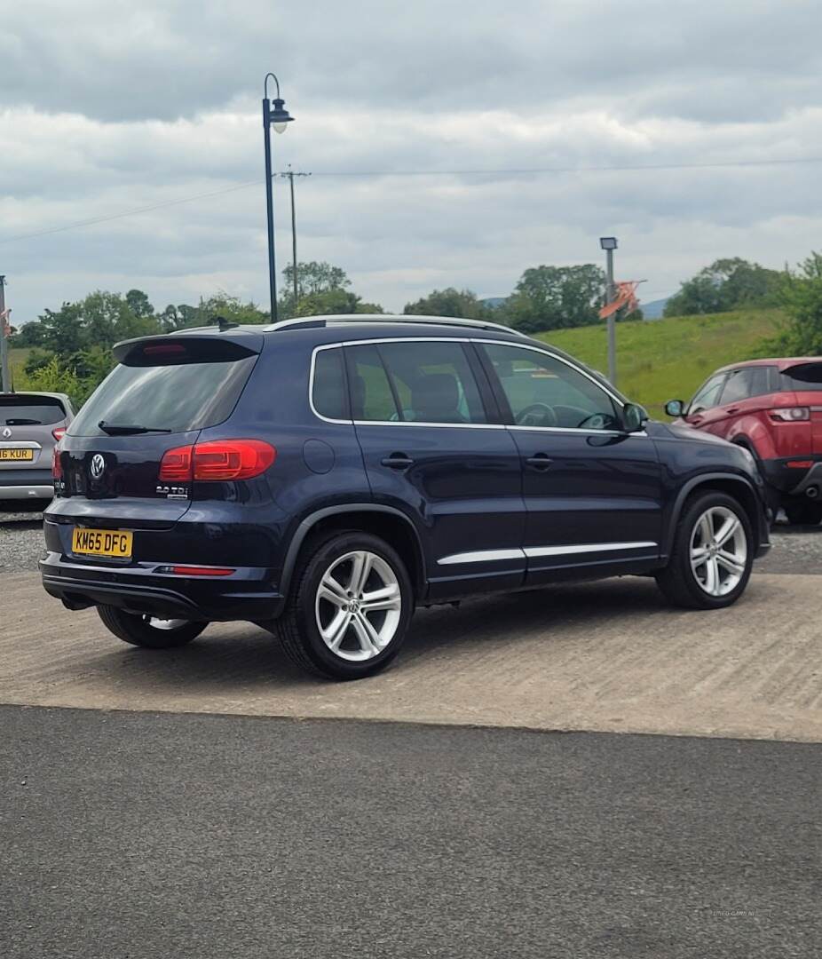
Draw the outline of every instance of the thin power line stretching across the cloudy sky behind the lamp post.
M636 164L611 167L524 167L498 170L316 170L314 176L528 176L540 174L596 174L596 173L634 173L654 172L666 170L722 170L750 167L795 166L806 163L822 163L822 156L798 156L772 160L727 160L715 163L655 163ZM288 176L288 173L278 173L274 176ZM152 213L155 210L164 210L181 203L191 203L198 199L220 197L223 194L237 190L246 190L251 186L259 186L265 180L247 180L245 183L234 183L220 190L211 190L207 193L194 194L188 197L163 200L149 206L141 206L132 210L122 210L104 217L95 217L90 220L81 220L65 223L62 226L53 226L34 233L21 233L12 237L0 237L0 244L18 243L22 240L33 240L35 237L50 236L53 233L62 233L66 230L81 229L84 226L94 226L126 217L134 217L141 213Z

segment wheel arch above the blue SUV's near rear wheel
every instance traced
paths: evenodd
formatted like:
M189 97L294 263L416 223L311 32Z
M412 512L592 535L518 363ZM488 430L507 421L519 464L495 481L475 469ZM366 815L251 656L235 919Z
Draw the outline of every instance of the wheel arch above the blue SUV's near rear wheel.
M291 589L294 569L300 553L311 541L334 530L358 529L384 539L402 557L411 576L417 599L424 596L428 586L425 572L425 553L416 526L411 519L393 506L380 503L345 503L317 509L307 516L294 531L283 563L280 593L287 596Z

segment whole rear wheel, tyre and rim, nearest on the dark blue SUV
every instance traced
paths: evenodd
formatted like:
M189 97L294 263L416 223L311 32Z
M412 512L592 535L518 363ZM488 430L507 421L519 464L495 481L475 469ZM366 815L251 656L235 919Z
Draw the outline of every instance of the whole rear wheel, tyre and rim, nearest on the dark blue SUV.
M368 533L341 532L305 551L276 626L297 666L362 679L397 655L412 614L411 578L396 550Z

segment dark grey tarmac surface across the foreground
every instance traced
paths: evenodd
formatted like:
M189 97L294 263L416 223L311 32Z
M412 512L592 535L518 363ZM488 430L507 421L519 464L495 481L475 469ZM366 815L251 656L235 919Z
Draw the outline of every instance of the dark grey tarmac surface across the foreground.
M0 708L4 959L818 955L819 750Z

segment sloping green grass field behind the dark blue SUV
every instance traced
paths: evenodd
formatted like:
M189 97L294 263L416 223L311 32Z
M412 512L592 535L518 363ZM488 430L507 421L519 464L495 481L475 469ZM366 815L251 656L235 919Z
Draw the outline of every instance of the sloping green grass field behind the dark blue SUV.
M779 310L682 316L617 324L617 374L623 393L654 416L668 400L687 400L718 366L751 357L772 336ZM607 374L605 324L541 333L544 339Z

